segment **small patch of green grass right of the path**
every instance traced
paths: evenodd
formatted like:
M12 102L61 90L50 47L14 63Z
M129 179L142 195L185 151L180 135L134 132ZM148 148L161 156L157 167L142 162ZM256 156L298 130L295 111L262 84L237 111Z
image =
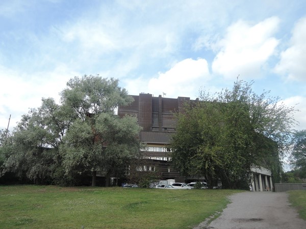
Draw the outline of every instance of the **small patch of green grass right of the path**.
M298 211L299 216L306 220L306 191L288 191L289 202Z

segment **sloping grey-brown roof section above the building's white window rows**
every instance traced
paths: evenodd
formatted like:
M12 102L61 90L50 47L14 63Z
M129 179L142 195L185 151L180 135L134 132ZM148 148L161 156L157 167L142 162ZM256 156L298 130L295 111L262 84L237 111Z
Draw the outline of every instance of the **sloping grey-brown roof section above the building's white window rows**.
M140 140L146 143L169 144L171 132L141 131Z

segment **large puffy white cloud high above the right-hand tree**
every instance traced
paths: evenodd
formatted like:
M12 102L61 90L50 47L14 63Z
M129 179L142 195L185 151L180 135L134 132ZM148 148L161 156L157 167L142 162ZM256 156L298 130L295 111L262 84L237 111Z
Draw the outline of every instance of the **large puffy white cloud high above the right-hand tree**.
M277 17L270 17L253 26L240 20L228 27L224 39L213 45L219 48L212 64L213 73L228 79L239 74L243 78L259 78L279 43L273 37L278 24Z

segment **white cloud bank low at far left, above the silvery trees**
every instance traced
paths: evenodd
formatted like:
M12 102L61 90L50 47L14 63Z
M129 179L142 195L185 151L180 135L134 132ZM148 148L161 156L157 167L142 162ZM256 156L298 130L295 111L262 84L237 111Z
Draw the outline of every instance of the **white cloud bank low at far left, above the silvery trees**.
M52 97L59 102L59 93L66 82L75 75L65 65L59 65L50 72L33 74L20 73L0 66L0 129L7 128L10 115L10 129L20 121L21 115L28 113L29 108L41 105L41 99Z

